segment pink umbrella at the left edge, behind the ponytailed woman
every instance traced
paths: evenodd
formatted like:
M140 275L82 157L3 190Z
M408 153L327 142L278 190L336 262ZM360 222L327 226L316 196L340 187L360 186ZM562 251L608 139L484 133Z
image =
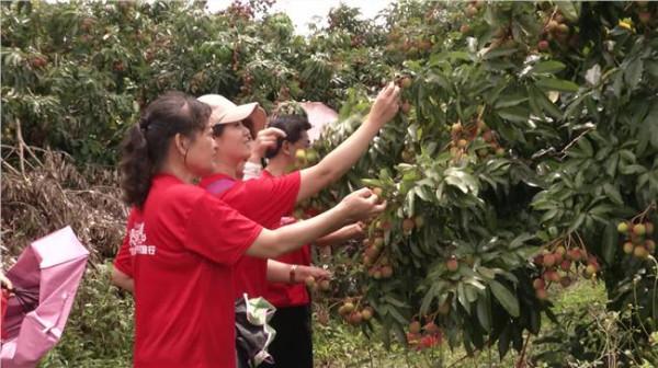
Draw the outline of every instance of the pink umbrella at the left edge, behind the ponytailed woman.
M36 367L61 337L89 252L70 227L27 246L7 273L14 296L7 304L0 365Z

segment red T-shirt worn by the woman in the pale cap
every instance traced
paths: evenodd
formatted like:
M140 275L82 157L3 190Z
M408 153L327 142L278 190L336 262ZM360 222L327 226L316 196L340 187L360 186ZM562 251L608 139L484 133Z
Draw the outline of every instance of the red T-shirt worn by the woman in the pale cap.
M300 175L292 174L272 177L261 176L246 182L236 181L225 174L204 177L200 186L217 187L217 182L232 180L231 186L224 186L217 196L250 220L268 229L276 229L281 218L292 212L299 193ZM247 292L250 298L262 297L268 287L268 260L245 255L234 272L235 297Z

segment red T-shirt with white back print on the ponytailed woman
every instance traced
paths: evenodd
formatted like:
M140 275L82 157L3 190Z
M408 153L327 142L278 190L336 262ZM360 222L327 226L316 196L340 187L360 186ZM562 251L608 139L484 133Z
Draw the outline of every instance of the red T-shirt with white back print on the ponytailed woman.
M115 261L131 275L134 254L135 367L236 366L232 269L261 230L197 186L154 179Z

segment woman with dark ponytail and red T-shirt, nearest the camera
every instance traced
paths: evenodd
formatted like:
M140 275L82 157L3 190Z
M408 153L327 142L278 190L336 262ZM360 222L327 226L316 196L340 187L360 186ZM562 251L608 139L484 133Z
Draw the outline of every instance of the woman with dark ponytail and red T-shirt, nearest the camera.
M313 220L262 228L193 185L215 170L209 115L193 97L168 93L122 147L135 367L235 367L234 265L246 255L276 257L384 207L361 189Z

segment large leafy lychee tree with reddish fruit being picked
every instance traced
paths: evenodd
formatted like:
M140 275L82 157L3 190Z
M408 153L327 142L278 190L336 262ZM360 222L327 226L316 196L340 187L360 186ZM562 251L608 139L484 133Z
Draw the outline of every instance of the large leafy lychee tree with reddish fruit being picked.
M439 326L468 352L522 352L552 317L546 288L595 277L610 309L633 309L644 345L629 359L658 361L655 15L643 2L473 2L447 15L461 32L404 64L405 114L327 194L365 184L388 200L350 274L385 338ZM365 94L352 90L344 117Z

